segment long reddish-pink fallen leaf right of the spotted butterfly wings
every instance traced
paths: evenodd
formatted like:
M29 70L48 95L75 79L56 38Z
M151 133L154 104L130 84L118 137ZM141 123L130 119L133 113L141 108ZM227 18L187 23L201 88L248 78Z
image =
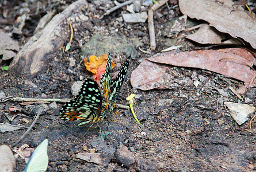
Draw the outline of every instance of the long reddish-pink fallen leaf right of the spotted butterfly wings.
M242 48L196 50L177 54L167 52L143 60L139 67L132 72L131 84L133 88L142 90L165 88L174 84L171 83L174 77L170 72L171 67L159 64L162 63L179 67L207 69L244 81L244 84L248 87L255 75L255 71L238 60L221 60L225 57L246 61L248 64L256 64L254 56ZM255 86L256 80L251 84L251 87Z

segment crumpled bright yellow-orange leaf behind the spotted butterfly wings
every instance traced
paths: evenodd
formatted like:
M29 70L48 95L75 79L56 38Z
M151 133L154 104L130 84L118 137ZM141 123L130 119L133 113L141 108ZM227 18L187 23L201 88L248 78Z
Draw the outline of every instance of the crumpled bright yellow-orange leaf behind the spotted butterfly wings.
M106 71L106 61L108 60L108 55L102 54L100 57L90 56L89 62L87 58L84 58L85 67L88 71L93 73L93 79L97 83L100 83L102 74ZM116 66L113 61L111 61L111 68L113 69Z

